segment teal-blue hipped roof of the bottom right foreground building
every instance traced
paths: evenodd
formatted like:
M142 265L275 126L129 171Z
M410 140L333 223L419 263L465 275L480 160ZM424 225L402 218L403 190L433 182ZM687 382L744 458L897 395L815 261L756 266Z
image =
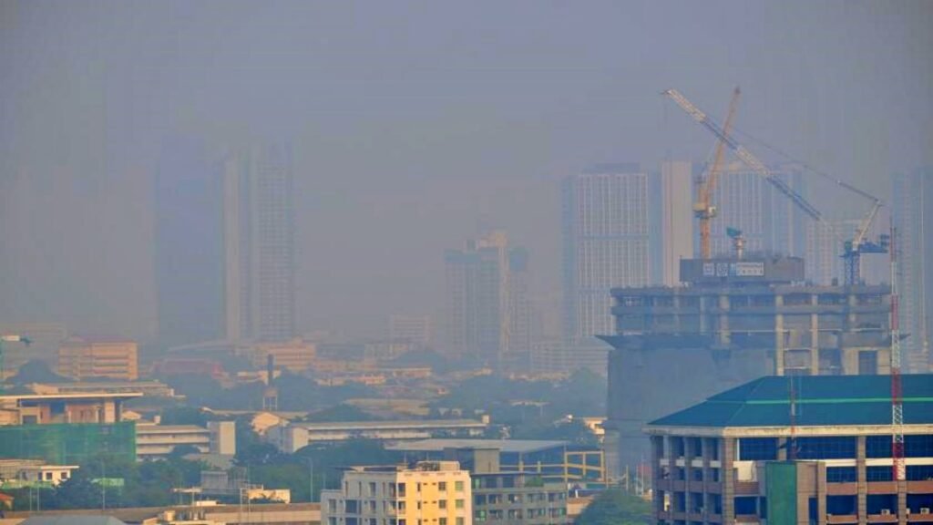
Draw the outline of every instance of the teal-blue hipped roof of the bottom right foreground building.
M790 425L790 387L799 426L886 425L891 376L767 376L718 393L651 426L778 427ZM933 375L902 376L904 423L933 424Z

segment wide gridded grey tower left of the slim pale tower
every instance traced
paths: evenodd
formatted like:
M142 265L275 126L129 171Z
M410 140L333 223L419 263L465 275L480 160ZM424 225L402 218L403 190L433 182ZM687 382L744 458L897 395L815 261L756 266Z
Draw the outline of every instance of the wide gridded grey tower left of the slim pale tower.
M597 165L564 179L564 338L613 333L609 290L651 279L648 173Z

